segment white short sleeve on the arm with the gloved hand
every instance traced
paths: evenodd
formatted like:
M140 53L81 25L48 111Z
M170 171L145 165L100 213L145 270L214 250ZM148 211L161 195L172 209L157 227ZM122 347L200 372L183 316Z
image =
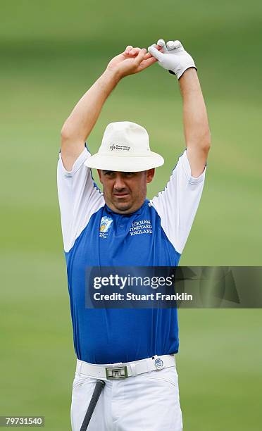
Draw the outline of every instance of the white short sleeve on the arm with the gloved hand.
M192 177L185 150L163 192L150 201L161 218L161 226L166 236L180 254L199 206L205 174L206 167L199 177Z

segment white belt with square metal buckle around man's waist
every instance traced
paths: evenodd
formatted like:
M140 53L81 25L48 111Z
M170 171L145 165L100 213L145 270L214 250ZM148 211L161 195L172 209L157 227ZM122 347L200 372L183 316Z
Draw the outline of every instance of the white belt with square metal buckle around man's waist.
M77 359L77 373L85 374L96 379L116 380L135 377L135 375L148 373L149 371L160 371L163 368L175 366L174 355L153 356L140 361L93 364Z

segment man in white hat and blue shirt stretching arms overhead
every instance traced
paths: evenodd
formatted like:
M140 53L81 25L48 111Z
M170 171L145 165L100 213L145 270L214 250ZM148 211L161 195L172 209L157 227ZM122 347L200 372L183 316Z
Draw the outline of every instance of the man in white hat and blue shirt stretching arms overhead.
M163 158L150 150L144 127L111 123L94 156L85 141L118 82L156 61L179 79L187 149L165 190L148 201L146 185ZM90 431L182 430L173 356L177 310L86 308L85 272L90 266L177 266L201 197L209 147L196 67L178 41L158 41L149 53L127 46L63 125L58 196L77 355L73 431L80 430L97 379L106 385ZM98 169L103 193L90 168Z

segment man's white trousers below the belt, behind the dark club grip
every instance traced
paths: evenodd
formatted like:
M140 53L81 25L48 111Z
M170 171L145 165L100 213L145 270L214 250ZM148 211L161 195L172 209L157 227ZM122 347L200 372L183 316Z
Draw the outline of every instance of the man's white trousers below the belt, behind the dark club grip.
M75 374L71 405L73 431L80 431L95 385L95 378ZM182 430L175 366L125 380L106 380L87 431L141 430Z

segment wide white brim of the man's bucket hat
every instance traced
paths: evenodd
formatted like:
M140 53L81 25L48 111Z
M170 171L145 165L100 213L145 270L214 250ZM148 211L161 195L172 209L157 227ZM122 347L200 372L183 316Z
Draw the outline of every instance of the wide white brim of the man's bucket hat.
M141 172L165 163L160 154L150 151L146 156L111 156L96 153L85 161L85 166L94 169L114 170L119 172Z

